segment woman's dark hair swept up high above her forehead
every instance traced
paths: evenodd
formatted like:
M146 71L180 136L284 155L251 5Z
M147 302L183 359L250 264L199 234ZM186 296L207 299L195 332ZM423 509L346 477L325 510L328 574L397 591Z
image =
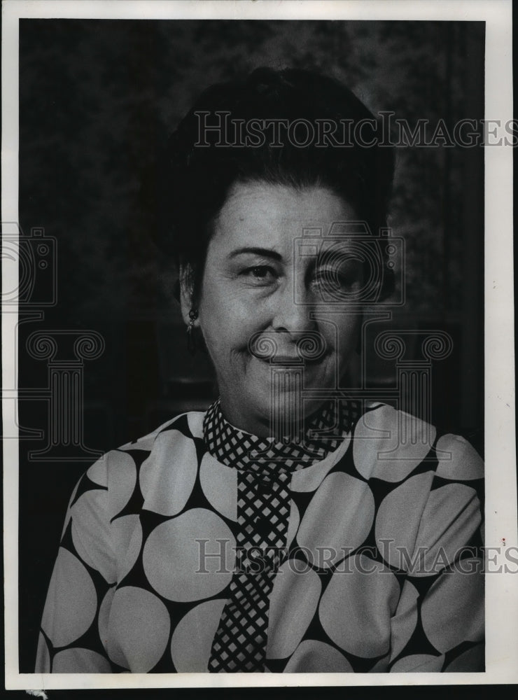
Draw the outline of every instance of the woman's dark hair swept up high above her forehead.
M205 113L207 125L217 123L219 113L219 132L200 134L200 113ZM221 113L228 113L228 120ZM343 124L363 122L363 143L353 139L346 146L317 145L312 139L300 146L285 138L279 147L266 138L262 144L240 146L235 120L305 120L315 132L321 120L342 129ZM258 68L244 78L213 85L202 92L169 138L155 173L155 241L177 265L189 267L196 297L212 223L235 183L327 187L350 204L375 234L386 227L394 169L393 146L379 145L380 130L379 121L351 90L312 71ZM384 265L379 299L392 289L393 275Z

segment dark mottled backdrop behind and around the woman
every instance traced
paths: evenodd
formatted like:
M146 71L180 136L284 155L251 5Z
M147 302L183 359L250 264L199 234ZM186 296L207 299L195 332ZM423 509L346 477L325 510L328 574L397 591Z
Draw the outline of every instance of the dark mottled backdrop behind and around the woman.
M100 333L104 353L83 367L85 448L116 447L214 395L164 291L174 274L139 183L204 87L260 65L317 67L411 126L484 116L483 23L20 20L20 225L57 241L57 303L20 325L19 385L48 386L48 363L26 351L31 332L64 331L64 360L67 334ZM433 365L433 422L480 451L483 195L482 148L398 148L390 223L406 241L407 301L376 327L449 332L454 351ZM395 365L365 351L370 385L395 386ZM84 449L84 461L29 455L45 447L48 413L45 400L20 401L20 425L45 433L20 441L20 672L34 666L66 503L93 461Z

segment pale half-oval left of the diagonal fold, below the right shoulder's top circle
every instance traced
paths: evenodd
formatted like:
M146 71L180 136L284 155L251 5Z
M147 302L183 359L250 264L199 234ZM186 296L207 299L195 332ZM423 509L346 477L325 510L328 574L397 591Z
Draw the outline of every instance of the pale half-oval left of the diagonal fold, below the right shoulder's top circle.
M395 568L407 570L408 562L412 562L416 532L432 479L433 472L416 474L388 493L379 505L376 543L384 560Z

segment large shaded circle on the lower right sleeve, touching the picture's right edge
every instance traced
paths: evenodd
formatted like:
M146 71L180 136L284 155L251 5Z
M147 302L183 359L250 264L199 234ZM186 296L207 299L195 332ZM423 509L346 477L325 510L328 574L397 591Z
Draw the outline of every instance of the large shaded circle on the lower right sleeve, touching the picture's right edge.
M444 573L433 583L421 605L423 630L435 649L447 652L461 642L478 642L484 622L484 577L461 571Z

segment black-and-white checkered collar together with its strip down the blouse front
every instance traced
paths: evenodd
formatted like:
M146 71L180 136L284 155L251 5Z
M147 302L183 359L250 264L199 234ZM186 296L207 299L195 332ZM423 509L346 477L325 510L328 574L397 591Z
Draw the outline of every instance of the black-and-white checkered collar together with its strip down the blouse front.
M301 444L283 444L230 425L217 400L204 439L218 461L237 468L237 568L214 637L211 673L265 670L269 596L283 558L291 473L336 449L356 419L356 402L329 402L313 416Z

